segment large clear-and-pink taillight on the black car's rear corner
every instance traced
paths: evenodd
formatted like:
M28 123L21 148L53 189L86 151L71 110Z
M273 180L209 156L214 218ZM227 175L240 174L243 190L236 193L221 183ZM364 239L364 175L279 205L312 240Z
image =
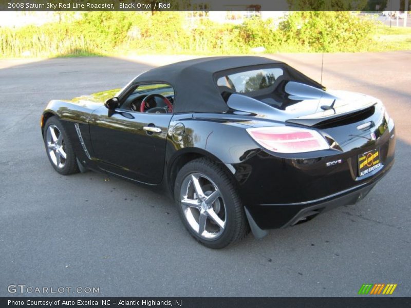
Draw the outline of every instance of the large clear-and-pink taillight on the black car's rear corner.
M329 149L327 141L315 130L290 126L248 128L261 146L278 153L302 153Z

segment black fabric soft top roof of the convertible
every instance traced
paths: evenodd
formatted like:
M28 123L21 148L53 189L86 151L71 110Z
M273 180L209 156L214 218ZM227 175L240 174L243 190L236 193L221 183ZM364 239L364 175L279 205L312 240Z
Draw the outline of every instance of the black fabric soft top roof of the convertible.
M229 108L221 97L214 74L241 67L270 64L283 64L283 62L260 56L204 57L153 68L137 76L134 82L156 81L173 86L176 113L224 112ZM292 70L308 79L302 73ZM310 84L315 83L315 86L319 86L313 80L308 80Z

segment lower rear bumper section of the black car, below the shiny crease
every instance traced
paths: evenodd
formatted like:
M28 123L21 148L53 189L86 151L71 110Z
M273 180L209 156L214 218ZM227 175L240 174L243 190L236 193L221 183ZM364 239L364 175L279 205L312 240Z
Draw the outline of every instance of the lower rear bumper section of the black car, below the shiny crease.
M368 194L377 182L387 174L393 165L394 160L381 170L378 176L373 177L372 180L367 183L360 184L351 189L340 191L337 194L321 199L300 203L260 204L246 207L247 217L250 226L253 229L253 233L258 233L258 229L285 228L311 220L315 216L335 207L355 204Z

